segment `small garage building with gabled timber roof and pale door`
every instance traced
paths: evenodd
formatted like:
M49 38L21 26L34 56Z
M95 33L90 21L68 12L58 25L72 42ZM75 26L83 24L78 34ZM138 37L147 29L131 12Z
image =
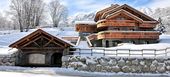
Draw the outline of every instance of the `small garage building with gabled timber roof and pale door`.
M69 55L74 45L38 29L9 47L19 50L16 65L20 66L62 66L61 58Z

